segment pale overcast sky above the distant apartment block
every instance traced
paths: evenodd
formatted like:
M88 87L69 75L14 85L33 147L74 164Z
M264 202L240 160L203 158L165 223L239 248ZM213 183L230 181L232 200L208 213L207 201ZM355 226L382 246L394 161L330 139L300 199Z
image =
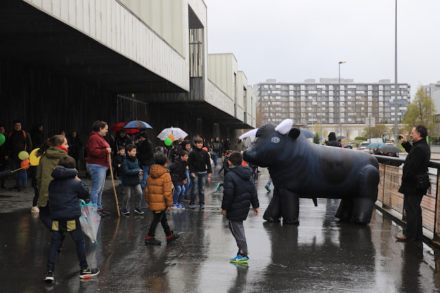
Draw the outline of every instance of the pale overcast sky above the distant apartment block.
M394 0L204 0L208 53L234 53L248 84L341 78L394 83ZM440 80L440 1L397 3L397 80Z

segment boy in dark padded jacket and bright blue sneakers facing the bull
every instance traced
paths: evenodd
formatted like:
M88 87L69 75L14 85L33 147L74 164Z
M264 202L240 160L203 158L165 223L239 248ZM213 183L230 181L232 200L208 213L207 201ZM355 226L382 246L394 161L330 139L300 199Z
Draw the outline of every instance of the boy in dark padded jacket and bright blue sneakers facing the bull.
M246 243L243 221L248 217L249 206L252 204L254 215L259 214L259 197L256 193L250 169L241 166L243 155L234 151L229 156L230 172L225 175L221 213L229 220L229 228L239 246L232 263L247 263L248 244Z

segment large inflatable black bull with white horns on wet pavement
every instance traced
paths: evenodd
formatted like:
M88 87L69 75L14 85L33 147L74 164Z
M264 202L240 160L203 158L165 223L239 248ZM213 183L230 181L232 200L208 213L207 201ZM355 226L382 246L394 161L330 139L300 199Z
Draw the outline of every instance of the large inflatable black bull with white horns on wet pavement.
M368 224L377 199L379 164L372 155L309 142L290 119L264 124L241 138L256 135L243 153L246 162L267 167L274 196L263 218L297 224L299 198L342 199L336 217ZM254 134L256 133L256 134Z

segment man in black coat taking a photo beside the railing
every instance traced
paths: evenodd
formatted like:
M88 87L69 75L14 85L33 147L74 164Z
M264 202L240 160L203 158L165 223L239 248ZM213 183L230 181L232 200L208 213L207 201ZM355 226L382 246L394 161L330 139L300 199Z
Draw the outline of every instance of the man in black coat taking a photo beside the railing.
M410 134L412 145L406 140L405 135L399 134L401 145L408 152L399 188L399 193L404 194L406 230L404 235L396 235L399 241L420 241L423 239L420 202L429 187L428 164L431 155L430 147L426 142L427 135L428 129L421 124L412 128ZM416 176L419 175L424 175L427 178L428 187L418 186Z

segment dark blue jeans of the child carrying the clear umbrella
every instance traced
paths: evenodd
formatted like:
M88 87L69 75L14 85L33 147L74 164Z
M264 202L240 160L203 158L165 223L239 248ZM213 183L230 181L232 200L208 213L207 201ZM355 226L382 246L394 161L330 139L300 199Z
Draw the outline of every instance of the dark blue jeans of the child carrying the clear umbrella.
M76 254L80 261L81 270L89 268L87 264L87 257L85 254L85 241L83 237L83 230L79 227L76 230L69 232L76 244ZM63 239L63 232L52 230L52 239L50 240L49 257L47 259L47 270L55 272L56 254L58 254L58 248L61 246L61 239Z

